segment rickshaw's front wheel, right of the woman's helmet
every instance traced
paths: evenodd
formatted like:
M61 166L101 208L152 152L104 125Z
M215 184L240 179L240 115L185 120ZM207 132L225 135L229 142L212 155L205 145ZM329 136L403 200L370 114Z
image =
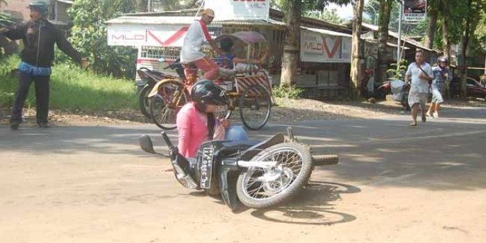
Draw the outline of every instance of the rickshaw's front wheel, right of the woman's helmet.
M247 87L240 97L240 117L244 126L259 130L270 118L271 99L262 85Z

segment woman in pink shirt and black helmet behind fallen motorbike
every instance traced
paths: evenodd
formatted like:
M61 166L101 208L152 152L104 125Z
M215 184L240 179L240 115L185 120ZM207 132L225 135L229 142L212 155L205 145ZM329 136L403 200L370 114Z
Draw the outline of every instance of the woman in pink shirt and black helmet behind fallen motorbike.
M192 86L192 101L177 113L178 151L186 158L196 156L199 146L209 140L247 140L241 126L230 126L228 119L215 117L218 106L226 106L226 92L212 81Z

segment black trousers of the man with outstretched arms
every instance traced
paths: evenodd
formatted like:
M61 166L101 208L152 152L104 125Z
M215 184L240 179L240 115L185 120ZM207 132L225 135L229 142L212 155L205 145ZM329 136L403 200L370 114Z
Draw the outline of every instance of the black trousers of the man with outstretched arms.
M19 90L15 95L10 123L22 122L22 108L27 99L31 83L35 85L35 103L37 105L37 124L47 122L49 115L49 79L51 76L33 76L19 72Z

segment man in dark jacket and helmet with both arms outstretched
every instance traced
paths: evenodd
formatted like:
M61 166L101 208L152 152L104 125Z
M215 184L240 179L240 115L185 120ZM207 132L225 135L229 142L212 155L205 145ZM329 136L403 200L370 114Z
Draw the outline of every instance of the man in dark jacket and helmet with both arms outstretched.
M40 128L49 127L49 79L54 59L54 44L64 51L74 61L87 67L86 59L76 51L65 35L47 20L48 6L44 1L32 1L28 8L31 10L31 20L14 28L5 28L1 34L10 40L21 40L24 49L20 55L19 89L15 95L10 127L17 130L22 123L22 109L27 98L31 83L35 84L35 103L37 125Z

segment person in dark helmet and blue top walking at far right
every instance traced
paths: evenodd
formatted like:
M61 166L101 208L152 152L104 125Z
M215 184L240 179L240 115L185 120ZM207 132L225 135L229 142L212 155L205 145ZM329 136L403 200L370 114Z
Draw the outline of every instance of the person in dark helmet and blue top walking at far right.
M439 117L440 104L444 102L446 84L452 81L452 72L449 70L449 59L442 56L437 59L437 67L432 68L433 80L430 85L432 92L432 102L427 111L427 117Z

